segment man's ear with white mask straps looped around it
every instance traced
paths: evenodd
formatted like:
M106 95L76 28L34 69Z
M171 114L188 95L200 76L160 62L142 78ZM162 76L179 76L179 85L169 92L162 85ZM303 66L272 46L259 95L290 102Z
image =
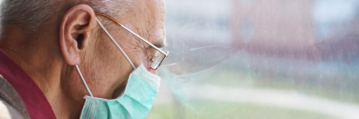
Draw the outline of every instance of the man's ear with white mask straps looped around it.
M96 30L94 10L86 4L69 9L60 24L60 49L67 64L80 64L81 55L87 48L91 34Z

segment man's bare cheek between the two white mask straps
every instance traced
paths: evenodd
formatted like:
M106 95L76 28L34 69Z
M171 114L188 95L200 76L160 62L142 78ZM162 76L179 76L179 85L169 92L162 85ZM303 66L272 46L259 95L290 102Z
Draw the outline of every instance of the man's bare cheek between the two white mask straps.
M111 42L101 42L86 63L85 80L96 97L109 99L113 91L125 80L129 63Z

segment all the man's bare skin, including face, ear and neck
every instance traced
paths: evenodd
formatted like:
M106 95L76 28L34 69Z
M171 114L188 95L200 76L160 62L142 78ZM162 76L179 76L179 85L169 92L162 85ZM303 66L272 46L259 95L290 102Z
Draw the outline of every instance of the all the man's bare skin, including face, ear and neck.
M114 19L150 43L163 47L164 0L134 0L133 8ZM65 15L59 15L62 13ZM101 22L109 20L82 4L52 14L51 22L35 33L16 24L4 26L1 32L0 49L36 82L59 119L79 118L85 102L83 97L89 95L75 64L79 65L92 94L105 99L120 95L133 70L95 17L101 18ZM116 29L111 32L112 37L136 67L143 63L148 71L157 74L147 61L156 54L155 49L120 26L111 29Z

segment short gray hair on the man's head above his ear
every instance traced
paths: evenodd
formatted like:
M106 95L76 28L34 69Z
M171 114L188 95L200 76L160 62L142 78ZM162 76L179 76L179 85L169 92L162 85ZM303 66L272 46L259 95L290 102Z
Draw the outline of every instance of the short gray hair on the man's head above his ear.
M112 17L128 11L132 0L2 0L0 6L0 28L9 24L21 25L28 30L36 30L51 14L77 4L88 4L95 12ZM107 22L103 24L109 24Z

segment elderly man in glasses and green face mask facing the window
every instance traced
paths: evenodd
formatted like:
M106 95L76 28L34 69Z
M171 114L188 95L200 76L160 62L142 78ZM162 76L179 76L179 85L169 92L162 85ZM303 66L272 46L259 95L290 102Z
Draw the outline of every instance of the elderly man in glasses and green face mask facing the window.
M0 118L143 119L164 17L163 0L2 0Z

